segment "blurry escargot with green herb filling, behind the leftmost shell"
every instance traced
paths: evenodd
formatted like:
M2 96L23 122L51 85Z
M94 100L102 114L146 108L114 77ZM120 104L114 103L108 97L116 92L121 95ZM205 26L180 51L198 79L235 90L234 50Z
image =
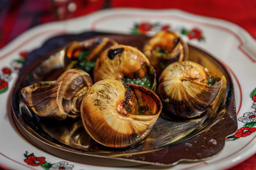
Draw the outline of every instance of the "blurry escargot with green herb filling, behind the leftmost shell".
M93 71L95 61L100 54L110 46L115 45L118 45L118 43L109 38L93 38L81 42L74 41L65 48L67 58L72 60L67 69L75 67L89 73Z

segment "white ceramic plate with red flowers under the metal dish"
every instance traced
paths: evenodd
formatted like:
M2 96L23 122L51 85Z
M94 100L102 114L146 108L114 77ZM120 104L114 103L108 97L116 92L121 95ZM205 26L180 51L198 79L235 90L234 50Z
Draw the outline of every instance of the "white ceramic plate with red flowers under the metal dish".
M10 169L44 169L44 167L58 169L60 166L66 169L120 169L120 167L97 166L97 161L106 160L93 157L88 157L85 160L86 164L63 160L60 158L61 155L56 157L46 153L22 137L12 122L10 110L10 92L17 77L15 67L21 66L20 53L38 48L45 40L58 34L93 30L151 35L162 28L177 31L188 43L212 54L227 67L234 83L237 122L240 129L236 137L231 136L227 139L225 148L212 159L180 163L167 169L223 169L234 166L253 155L256 151L256 132L254 132L256 118L253 116L256 114L255 105L253 105L253 99L256 98L253 98L255 95L253 90L256 87L253 76L255 71L253 66L256 62L256 48L253 48L256 46L255 39L241 27L223 20L200 17L178 10L153 11L122 8L99 11L64 22L40 25L24 32L0 50L0 92L2 92L0 94L0 165ZM4 89L6 85L8 90ZM117 166L124 166L124 164L117 163ZM157 169L156 166L147 165L123 168Z

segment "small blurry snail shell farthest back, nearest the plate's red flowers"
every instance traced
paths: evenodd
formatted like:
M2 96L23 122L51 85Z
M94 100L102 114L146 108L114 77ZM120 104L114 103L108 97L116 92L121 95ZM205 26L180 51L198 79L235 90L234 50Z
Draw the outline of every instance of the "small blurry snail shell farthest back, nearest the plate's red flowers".
M188 45L179 34L160 31L145 44L143 53L156 69L157 77L169 64L188 60Z

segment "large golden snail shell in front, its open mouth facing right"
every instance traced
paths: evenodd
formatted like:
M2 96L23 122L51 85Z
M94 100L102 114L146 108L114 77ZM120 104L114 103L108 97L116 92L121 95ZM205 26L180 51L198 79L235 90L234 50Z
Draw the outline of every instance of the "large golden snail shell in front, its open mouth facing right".
M84 129L95 141L124 148L148 135L161 109L159 97L151 90L106 79L97 81L86 92L81 118Z

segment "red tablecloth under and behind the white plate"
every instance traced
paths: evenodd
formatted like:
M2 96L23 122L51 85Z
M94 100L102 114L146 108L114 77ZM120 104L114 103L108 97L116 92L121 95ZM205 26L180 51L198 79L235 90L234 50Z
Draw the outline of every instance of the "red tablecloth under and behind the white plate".
M76 8L70 3L74 3ZM256 39L255 0L73 0L72 2L70 0L2 0L0 1L0 48L35 25L75 18L104 8L118 7L175 8L207 17L221 18L240 25ZM232 169L256 169L256 154Z

